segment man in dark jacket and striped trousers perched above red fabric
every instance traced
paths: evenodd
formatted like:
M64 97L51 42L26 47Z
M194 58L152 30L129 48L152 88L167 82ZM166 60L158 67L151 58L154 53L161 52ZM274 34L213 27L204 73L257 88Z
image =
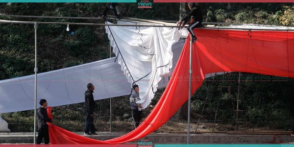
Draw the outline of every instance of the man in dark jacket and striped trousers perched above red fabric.
M195 33L193 31L194 28L202 26L202 13L201 10L196 6L194 2L189 2L188 7L191 10L182 20L177 22L178 25L188 25L187 29L192 35L192 41L195 42L197 40Z

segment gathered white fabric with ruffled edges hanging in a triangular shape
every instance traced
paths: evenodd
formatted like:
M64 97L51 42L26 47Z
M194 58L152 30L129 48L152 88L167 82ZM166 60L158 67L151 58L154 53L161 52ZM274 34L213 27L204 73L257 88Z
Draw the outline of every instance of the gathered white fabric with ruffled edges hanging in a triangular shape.
M138 103L146 108L154 97L161 76L170 73L172 44L179 40L180 32L177 28L168 27L105 28L128 82L139 85L141 100Z

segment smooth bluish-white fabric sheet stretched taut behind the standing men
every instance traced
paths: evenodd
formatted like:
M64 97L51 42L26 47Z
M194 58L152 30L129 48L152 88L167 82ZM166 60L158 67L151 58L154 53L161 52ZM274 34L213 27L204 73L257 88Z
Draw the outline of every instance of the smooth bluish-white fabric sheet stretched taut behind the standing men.
M183 49L184 41L172 46L173 62ZM129 95L131 84L127 81L121 65L115 57L70 68L38 73L37 106L41 98L49 106L60 106L84 102L84 92L89 82L95 85L95 100ZM159 88L167 85L165 76ZM34 109L34 75L0 80L0 114ZM128 98L126 99L128 101Z

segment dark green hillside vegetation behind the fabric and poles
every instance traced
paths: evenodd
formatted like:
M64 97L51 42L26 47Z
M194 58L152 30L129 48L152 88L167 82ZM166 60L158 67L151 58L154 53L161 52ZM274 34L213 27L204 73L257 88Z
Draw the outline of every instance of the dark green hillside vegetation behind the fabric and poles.
M104 3L0 3L0 14L98 17ZM201 3L204 22L245 23L259 25L294 26L293 3ZM137 3L122 3L125 17L149 20L179 19L179 3L153 3L152 8L137 8ZM112 13L109 12L111 15ZM112 14L113 15L113 14ZM98 20L79 19L36 19L3 17L2 20L103 23ZM38 69L39 73L72 67L109 57L109 40L102 26L38 25ZM71 32L74 35L71 35ZM265 52L266 53L266 52ZM0 80L33 74L34 27L24 24L0 24ZM223 80L224 79L224 80ZM238 96L238 73L208 78L192 98L192 122L201 117L202 128L211 130L218 110L216 129L234 130L232 98ZM252 122L253 127L266 129L289 129L291 127L289 98L294 79L259 74L242 73L240 85L240 109L247 110L240 118ZM231 87L220 88L220 86ZM81 89L81 93L86 90ZM155 105L164 89L156 92L151 105ZM206 100L207 99L207 100ZM49 102L50 103L50 102ZM96 100L95 122L98 131L109 131L110 99ZM13 104L11 104L13 105ZM218 108L218 109L217 109ZM132 118L128 97L112 98L112 131L129 132ZM152 110L144 110L144 116ZM185 125L186 106L169 123L157 132L176 130L175 124ZM52 110L55 124L70 131L83 131L85 110L83 103L58 106ZM33 111L1 114L9 123L11 131L33 131ZM245 125L241 125L245 129ZM177 127L178 130L180 127Z

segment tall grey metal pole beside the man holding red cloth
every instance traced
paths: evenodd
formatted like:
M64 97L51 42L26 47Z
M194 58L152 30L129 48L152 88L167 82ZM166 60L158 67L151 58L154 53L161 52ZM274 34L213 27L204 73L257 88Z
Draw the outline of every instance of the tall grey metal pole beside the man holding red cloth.
M35 114L34 114L34 144L36 144L36 116L37 116L37 22L34 24L35 27Z

